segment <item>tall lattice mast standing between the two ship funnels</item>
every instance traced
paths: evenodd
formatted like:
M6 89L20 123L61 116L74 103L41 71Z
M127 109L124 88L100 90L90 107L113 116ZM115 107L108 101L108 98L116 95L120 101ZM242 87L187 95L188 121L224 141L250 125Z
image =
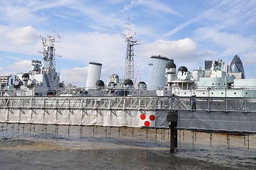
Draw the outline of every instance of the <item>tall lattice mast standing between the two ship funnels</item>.
M133 35L135 35L136 33L130 33L131 29L130 23L126 23L127 28L126 30L129 31L129 33L127 34L123 34L121 33L121 35L123 35L123 38L125 38L125 41L127 43L126 45L126 66L125 66L125 75L124 75L124 79L130 79L133 81L134 79L134 51L133 51L133 46L135 45L139 45L138 44L138 40L133 38Z

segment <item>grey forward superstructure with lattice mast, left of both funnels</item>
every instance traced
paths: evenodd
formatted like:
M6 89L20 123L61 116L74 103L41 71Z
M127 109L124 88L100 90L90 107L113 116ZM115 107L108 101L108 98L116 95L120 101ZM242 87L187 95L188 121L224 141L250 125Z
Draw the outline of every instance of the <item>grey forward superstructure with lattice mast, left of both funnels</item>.
M51 35L41 38L44 66L40 60L32 60L30 72L9 76L4 96L50 96L62 86L60 74L55 69L55 38Z

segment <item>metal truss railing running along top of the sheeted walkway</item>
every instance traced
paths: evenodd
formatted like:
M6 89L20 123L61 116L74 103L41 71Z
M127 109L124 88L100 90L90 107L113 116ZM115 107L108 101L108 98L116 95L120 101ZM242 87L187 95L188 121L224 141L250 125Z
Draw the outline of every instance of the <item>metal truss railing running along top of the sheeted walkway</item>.
M161 110L161 111L222 111L256 113L254 98L191 98L132 96L6 96L0 98L0 108L9 109L88 109L88 110Z

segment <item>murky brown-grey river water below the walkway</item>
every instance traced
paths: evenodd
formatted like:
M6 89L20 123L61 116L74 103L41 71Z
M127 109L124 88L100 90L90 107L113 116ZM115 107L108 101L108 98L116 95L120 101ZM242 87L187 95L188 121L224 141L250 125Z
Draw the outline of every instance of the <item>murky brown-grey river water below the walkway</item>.
M0 169L256 169L255 135L178 135L170 154L169 130L3 125Z

